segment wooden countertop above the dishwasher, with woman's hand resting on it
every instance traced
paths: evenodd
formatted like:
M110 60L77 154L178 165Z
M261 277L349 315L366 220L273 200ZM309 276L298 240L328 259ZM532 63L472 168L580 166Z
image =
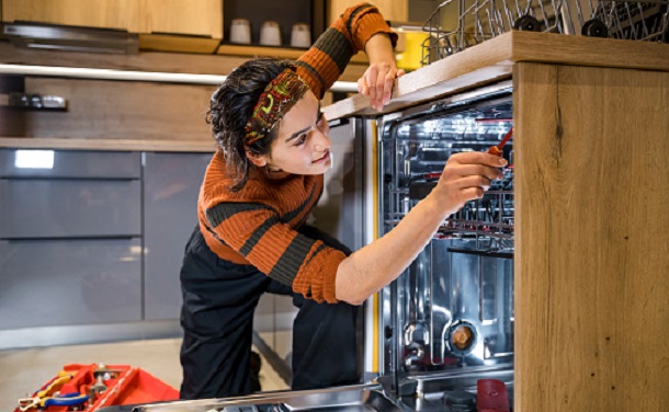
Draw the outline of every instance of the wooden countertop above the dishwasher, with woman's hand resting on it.
M401 77L384 112L371 108L362 95L339 101L324 112L328 119L394 112L509 78L519 61L669 71L669 45L512 31Z

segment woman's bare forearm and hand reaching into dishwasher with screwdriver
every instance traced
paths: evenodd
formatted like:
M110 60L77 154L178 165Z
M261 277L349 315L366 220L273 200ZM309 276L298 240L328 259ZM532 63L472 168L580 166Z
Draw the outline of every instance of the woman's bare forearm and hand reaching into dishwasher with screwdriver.
M336 297L360 305L393 282L423 250L439 226L467 201L480 198L490 181L503 178L506 160L484 152L452 156L432 192L384 237L344 259L334 281Z

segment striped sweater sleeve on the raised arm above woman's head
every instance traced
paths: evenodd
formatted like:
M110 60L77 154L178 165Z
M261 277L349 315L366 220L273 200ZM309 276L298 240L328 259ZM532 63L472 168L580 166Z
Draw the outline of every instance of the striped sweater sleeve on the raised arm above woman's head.
M377 33L388 33L393 45L397 34L390 31L374 5L360 3L344 13L318 37L296 61L297 73L309 84L318 99L339 79L358 52Z

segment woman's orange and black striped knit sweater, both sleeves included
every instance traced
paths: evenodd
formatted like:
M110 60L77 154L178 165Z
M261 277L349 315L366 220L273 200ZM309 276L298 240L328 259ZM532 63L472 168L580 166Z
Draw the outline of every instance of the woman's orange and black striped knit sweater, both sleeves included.
M297 61L297 73L322 99L349 60L376 33L396 41L378 10L362 3L348 9ZM336 302L334 276L345 255L296 231L316 206L322 175L272 173L253 169L246 186L231 192L225 157L218 150L200 191L200 230L220 259L256 266L295 293Z

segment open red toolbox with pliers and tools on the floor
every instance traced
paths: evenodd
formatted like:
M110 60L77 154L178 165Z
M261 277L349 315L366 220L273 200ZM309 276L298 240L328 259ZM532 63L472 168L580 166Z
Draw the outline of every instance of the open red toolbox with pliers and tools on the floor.
M88 396L89 398L81 402ZM20 400L14 412L43 410L95 411L101 408L172 401L179 391L146 370L131 365L70 364L39 390Z

